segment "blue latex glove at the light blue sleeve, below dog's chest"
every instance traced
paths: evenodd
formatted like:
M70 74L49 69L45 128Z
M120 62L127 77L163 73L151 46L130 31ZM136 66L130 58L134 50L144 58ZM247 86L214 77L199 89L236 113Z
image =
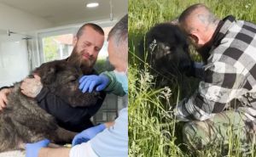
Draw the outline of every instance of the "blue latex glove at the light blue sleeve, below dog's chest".
M72 146L75 146L80 143L86 143L91 138L95 137L96 134L98 134L99 132L102 132L105 128L106 126L104 124L101 124L98 126L90 127L89 129L86 129L83 132L80 132L73 138Z

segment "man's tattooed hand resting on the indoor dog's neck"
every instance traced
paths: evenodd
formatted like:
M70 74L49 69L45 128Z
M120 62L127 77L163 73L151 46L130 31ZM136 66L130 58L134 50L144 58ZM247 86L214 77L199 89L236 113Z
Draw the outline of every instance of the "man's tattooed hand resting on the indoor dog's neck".
M20 86L21 93L30 98L36 98L42 88L41 78L37 75L34 75L34 78L26 78Z

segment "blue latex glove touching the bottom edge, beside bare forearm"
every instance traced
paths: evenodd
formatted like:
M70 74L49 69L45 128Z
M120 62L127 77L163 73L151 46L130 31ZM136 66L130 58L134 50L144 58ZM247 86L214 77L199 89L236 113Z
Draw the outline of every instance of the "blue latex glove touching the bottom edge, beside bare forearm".
M47 147L49 139L44 139L38 143L26 143L26 157L38 157L38 152L43 147Z

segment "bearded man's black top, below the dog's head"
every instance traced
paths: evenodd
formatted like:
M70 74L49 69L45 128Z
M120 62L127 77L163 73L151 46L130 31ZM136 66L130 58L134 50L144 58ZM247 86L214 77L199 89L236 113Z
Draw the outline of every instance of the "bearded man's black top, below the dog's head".
M96 71L91 75L96 75ZM58 122L58 125L73 132L81 132L84 129L93 126L90 117L96 114L96 111L101 108L106 93L101 92L95 105L90 107L72 107L57 97L55 93L50 93L48 88L43 87L41 92L36 97L38 105L45 109L50 115L53 115Z

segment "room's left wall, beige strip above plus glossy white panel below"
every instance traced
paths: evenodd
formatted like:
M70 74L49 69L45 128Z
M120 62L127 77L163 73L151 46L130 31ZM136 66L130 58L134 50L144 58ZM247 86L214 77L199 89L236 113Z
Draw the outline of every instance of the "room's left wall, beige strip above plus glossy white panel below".
M21 34L52 27L49 21L28 14L19 9L0 3L0 87L12 85L21 81L29 73L29 61L25 36L11 34L15 31Z

